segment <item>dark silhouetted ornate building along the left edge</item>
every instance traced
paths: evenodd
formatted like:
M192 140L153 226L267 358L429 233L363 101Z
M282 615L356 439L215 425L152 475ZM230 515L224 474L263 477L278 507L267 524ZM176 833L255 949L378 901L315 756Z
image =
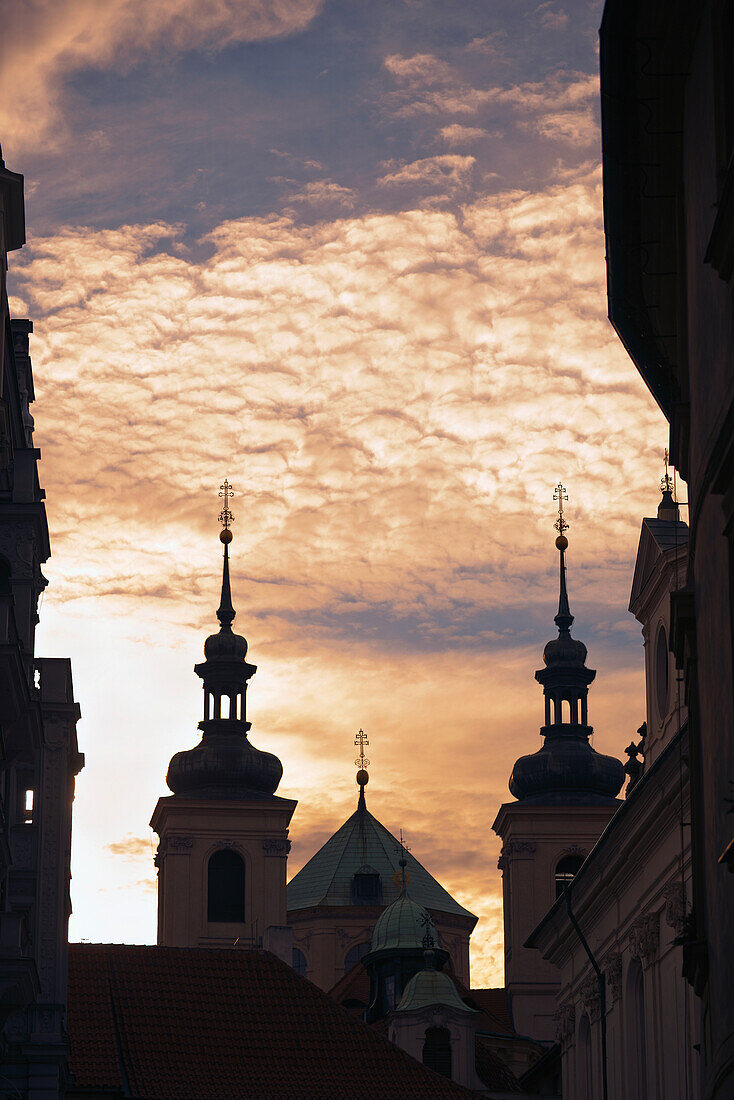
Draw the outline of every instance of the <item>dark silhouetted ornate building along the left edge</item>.
M0 1097L57 1100L67 1081L72 669L35 656L51 554L33 442L28 320L11 320L8 253L25 241L23 177L0 155Z

